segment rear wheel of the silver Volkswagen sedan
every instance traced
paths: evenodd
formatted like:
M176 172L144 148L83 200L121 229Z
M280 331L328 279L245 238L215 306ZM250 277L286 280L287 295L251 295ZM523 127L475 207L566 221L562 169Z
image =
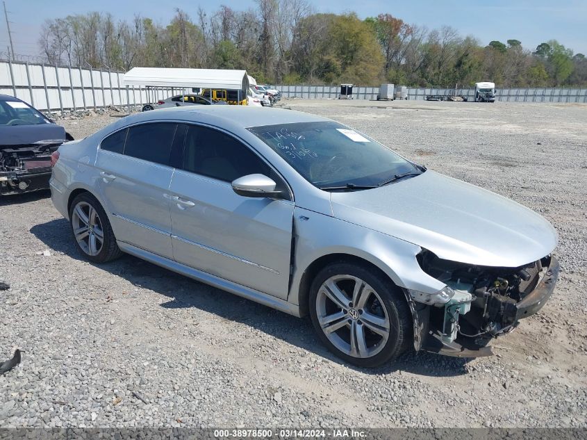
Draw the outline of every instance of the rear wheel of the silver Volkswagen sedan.
M106 263L122 254L106 211L90 193L82 193L73 200L69 208L69 225L76 247L86 259Z

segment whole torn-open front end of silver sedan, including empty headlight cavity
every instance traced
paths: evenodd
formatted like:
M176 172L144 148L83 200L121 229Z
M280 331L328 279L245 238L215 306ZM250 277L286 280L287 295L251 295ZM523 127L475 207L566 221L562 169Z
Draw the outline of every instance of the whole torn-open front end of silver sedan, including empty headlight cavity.
M457 263L427 250L417 261L446 287L434 295L406 289L415 349L456 357L492 355L488 342L540 310L559 276L552 255L517 268Z

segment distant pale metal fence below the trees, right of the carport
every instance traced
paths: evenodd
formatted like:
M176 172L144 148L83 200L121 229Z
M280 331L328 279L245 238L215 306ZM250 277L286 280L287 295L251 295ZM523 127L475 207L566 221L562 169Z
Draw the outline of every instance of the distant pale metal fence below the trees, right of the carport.
M336 85L276 85L283 97L304 99L337 99L340 87ZM408 99L422 100L427 95L462 95L474 99L474 88L408 88ZM353 88L354 99L377 99L379 86ZM586 102L587 88L497 88L498 101L513 102Z

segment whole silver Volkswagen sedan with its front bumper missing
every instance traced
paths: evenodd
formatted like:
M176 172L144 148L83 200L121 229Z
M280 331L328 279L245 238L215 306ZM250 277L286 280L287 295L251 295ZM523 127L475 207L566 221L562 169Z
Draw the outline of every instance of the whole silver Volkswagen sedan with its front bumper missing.
M295 316L358 366L475 357L559 272L537 213L332 120L190 106L125 117L53 154L78 250L122 252Z

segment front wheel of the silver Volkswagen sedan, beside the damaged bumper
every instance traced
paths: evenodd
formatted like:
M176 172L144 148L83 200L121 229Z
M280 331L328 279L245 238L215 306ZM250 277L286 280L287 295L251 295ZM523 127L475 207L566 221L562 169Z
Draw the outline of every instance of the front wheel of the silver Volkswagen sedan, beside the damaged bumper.
M408 304L377 269L345 262L326 266L312 283L309 304L318 337L349 364L380 366L411 345Z

